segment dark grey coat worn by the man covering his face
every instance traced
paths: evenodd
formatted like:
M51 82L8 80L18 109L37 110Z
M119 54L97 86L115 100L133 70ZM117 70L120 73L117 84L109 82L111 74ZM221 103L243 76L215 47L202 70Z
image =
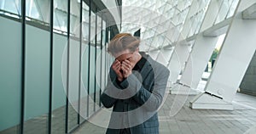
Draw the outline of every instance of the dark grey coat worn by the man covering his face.
M159 133L157 110L170 72L147 54L141 54L148 61L140 73L133 71L125 81L118 84L115 72L109 71L108 84L101 95L102 104L113 107L107 134L119 134L123 128L130 128L131 134Z

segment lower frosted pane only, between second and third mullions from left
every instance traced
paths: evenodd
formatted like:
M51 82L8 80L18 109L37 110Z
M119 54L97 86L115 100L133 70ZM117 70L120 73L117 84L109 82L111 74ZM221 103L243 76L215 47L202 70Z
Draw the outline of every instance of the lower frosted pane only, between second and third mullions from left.
M54 79L52 94L51 131L52 133L65 133L67 86L67 36L54 34L53 45L53 58L55 62L53 64ZM63 55L63 53L65 54ZM65 82L62 82L63 80L65 80Z

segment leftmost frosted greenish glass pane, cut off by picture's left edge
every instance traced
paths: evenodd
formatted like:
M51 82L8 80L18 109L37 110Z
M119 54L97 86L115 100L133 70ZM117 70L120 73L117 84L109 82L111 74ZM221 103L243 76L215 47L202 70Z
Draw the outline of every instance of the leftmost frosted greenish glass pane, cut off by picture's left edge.
M13 134L20 130L21 25L3 16L0 22L0 133Z

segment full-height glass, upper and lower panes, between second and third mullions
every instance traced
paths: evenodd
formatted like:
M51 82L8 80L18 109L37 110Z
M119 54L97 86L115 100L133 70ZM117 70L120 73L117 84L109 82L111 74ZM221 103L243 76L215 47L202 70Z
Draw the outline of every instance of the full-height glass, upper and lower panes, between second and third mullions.
M61 0L54 0L54 29L58 32L67 32L67 1L60 2ZM61 134L65 133L67 107L67 36L54 34L53 39L55 62L53 63L51 132Z

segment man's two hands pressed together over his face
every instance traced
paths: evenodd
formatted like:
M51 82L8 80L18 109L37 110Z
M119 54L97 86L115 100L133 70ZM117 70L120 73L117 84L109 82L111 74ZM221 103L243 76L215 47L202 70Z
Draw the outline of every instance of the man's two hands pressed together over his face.
M123 81L125 78L131 75L133 66L134 65L132 65L128 59L121 62L118 59L115 59L111 67L116 73L118 81Z

